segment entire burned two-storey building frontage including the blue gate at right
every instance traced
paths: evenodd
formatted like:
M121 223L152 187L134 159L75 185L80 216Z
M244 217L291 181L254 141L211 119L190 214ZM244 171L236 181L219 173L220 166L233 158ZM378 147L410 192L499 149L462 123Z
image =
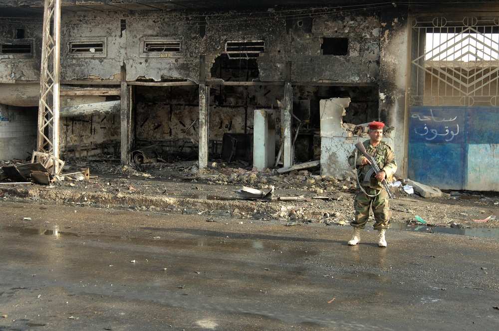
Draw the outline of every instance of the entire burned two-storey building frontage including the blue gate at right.
M52 2L0 1L0 159L26 158L47 132L43 45L55 35L63 159L128 164L154 146L200 167L320 160L341 175L380 120L399 176L499 190L493 1L62 0L47 28Z

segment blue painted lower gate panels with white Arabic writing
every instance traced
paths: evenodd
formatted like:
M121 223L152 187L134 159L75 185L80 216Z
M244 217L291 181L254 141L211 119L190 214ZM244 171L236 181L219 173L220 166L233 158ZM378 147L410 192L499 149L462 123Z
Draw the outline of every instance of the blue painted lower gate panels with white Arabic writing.
M420 183L497 191L498 145L499 107L409 110L408 175Z

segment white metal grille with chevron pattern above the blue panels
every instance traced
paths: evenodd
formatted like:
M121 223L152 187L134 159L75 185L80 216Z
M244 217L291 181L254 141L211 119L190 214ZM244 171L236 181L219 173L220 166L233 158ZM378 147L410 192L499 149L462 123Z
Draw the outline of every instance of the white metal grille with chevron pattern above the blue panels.
M415 106L499 105L499 20L414 20L411 99Z

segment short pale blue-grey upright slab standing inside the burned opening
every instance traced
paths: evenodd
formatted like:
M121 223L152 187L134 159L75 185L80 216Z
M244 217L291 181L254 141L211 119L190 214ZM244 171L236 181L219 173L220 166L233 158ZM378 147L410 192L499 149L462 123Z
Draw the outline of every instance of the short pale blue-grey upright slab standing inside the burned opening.
M275 162L275 113L268 109L253 112L253 166L258 170Z

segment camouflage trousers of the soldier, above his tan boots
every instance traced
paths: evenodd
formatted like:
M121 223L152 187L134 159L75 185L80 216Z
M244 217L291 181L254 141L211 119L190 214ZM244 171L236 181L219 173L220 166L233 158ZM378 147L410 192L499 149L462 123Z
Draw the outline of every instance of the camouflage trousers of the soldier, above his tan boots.
M377 189L364 187L368 196L360 188L357 188L357 193L355 195L355 219L350 222L351 226L364 229L369 219L369 208L372 207L374 214L374 229L382 230L388 229L390 224L390 217L392 212L390 211L390 203L388 199L388 193L383 189L381 192Z

